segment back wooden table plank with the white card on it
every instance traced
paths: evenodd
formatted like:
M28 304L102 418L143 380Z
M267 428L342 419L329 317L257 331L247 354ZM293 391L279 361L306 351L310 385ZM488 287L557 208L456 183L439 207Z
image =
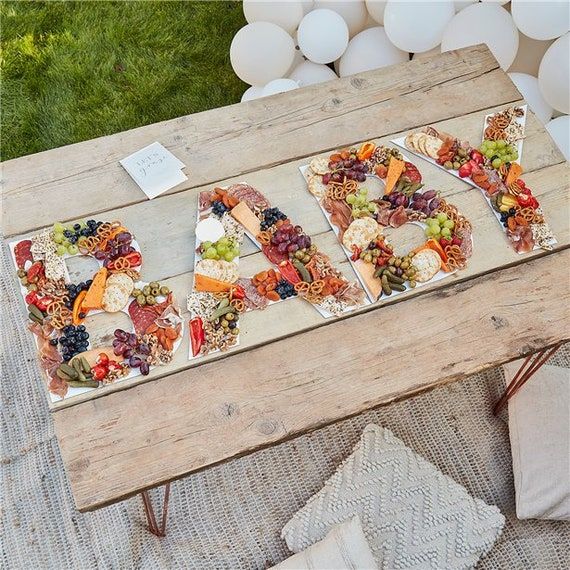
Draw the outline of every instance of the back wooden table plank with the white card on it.
M476 46L15 159L3 164L4 232L143 201L118 160L154 140L187 165L174 193L519 98Z

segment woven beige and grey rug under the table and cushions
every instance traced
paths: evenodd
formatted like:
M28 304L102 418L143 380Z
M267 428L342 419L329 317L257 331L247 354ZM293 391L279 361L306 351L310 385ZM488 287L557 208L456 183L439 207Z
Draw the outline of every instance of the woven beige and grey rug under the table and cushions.
M566 567L570 524L515 517L506 414L491 414L504 386L500 369L174 483L166 538L145 530L138 497L76 512L6 251L4 246L0 275L0 567L266 568L289 555L281 528L351 452L369 422L390 428L505 514L505 531L480 568ZM569 367L568 347L551 363ZM162 494L152 496L156 504Z

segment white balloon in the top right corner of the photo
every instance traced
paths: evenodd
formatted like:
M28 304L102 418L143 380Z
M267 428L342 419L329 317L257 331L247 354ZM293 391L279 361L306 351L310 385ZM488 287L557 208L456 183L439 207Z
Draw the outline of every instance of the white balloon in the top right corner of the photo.
M511 14L517 28L535 40L552 40L570 30L570 3L567 0L512 0Z

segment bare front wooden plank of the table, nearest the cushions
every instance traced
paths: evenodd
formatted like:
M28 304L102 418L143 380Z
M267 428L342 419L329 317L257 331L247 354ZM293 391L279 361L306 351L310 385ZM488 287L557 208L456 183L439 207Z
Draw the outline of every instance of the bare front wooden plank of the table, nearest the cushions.
M565 340L570 285L553 294L552 283L568 263L565 250L419 297L413 310L375 309L61 410L55 429L77 508Z

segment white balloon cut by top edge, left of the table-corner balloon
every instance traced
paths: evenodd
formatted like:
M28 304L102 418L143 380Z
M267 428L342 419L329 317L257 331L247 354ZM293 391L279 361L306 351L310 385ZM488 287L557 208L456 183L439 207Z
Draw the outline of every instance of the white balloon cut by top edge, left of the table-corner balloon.
M394 2L384 12L388 39L408 52L428 51L441 43L447 24L455 15L451 0L444 2Z

